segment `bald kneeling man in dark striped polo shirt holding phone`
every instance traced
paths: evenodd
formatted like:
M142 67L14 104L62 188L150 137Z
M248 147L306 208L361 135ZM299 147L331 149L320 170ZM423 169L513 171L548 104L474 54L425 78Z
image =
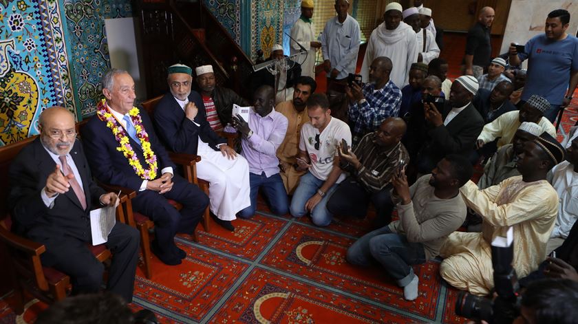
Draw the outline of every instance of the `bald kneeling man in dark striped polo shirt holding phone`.
M380 224L388 224L394 207L389 198L392 176L409 154L400 140L407 127L401 118L384 120L379 129L363 137L354 151L340 147L340 167L349 172L330 197L328 210L335 215L364 218L372 202Z

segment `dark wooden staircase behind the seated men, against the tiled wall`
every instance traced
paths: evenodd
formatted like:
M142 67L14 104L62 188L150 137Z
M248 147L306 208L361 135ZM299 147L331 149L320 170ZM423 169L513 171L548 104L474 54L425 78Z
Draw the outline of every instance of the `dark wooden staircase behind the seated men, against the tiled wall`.
M217 85L250 98L242 87L253 61L200 0L134 0L149 98L168 91L167 67L213 65Z

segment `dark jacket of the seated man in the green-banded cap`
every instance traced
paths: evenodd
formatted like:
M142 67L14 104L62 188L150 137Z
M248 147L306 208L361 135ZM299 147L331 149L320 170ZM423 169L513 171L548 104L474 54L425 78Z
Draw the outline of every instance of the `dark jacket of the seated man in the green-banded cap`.
M217 136L206 121L206 111L201 96L191 91L189 101L195 102L199 109L195 116L195 122L199 126L185 117L183 109L172 94L165 94L158 102L154 116L160 138L171 151L175 152L197 154L198 138L217 151L217 144L227 141Z

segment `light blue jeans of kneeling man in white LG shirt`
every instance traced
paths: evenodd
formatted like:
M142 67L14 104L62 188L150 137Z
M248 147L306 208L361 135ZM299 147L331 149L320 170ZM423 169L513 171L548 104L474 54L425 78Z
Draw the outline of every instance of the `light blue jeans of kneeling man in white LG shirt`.
M305 209L305 204L309 198L313 197L313 195L317 193L317 190L323 186L323 182L325 182L325 180L317 179L317 177L312 175L310 172L301 176L301 179L299 179L299 186L297 186L295 193L293 193L291 206L289 208L293 217L302 217L308 213L308 210ZM317 206L315 206L311 211L313 224L317 226L328 226L331 224L333 215L329 212L326 206L331 194L336 188L337 184L331 186L327 193L325 193L325 197L323 197L319 204L317 204Z

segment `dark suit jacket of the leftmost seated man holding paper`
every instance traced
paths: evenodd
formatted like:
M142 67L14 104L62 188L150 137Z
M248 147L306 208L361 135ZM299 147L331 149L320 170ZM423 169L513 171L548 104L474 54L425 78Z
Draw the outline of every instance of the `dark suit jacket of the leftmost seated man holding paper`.
M87 210L83 210L72 188L54 199L54 206L47 208L41 198L56 163L44 149L40 138L36 138L19 153L10 164L10 194L8 204L12 210L15 233L45 242L54 237L75 237L91 241L89 211L92 204L98 205L105 191L93 181L81 142L78 140L70 151L78 174L83 182L87 199Z

